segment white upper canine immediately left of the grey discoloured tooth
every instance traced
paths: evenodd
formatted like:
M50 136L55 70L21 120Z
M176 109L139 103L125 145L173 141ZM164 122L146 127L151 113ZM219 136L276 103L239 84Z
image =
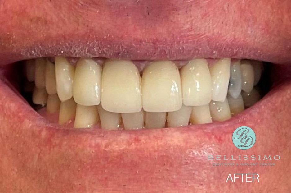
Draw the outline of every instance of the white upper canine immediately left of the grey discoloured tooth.
M222 58L210 67L212 80L212 100L224 101L226 99L228 83L230 78L230 58Z

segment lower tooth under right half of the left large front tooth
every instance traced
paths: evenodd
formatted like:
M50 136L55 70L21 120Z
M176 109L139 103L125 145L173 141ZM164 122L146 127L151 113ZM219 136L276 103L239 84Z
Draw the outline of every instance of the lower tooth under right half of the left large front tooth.
M141 109L137 113L122 113L122 121L124 129L142 129L144 126L144 114L145 112Z

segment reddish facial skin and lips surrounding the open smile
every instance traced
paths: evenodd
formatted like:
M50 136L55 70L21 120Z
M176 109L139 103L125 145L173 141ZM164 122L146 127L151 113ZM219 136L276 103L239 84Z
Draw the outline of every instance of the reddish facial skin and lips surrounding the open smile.
M233 57L277 64L272 73L278 82L226 122L93 131L47 122L0 73L0 192L289 192L290 9L290 1L275 0L0 3L1 66L54 55ZM257 136L248 150L231 140L243 125ZM275 166L212 166L231 161L210 161L209 154L280 155L280 160L236 161ZM257 173L260 182L226 183L229 173Z

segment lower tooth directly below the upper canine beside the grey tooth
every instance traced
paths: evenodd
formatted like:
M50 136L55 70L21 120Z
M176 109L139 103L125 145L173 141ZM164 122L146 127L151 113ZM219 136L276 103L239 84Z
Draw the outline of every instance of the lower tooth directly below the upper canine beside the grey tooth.
M225 121L231 118L231 110L227 99L223 102L211 101L209 108L213 121Z

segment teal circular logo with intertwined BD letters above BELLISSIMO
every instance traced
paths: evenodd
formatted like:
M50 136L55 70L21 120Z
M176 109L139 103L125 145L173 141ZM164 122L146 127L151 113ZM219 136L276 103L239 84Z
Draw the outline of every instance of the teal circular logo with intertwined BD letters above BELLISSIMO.
M232 142L239 149L250 149L255 141L255 132L247 126L237 128L232 134Z

